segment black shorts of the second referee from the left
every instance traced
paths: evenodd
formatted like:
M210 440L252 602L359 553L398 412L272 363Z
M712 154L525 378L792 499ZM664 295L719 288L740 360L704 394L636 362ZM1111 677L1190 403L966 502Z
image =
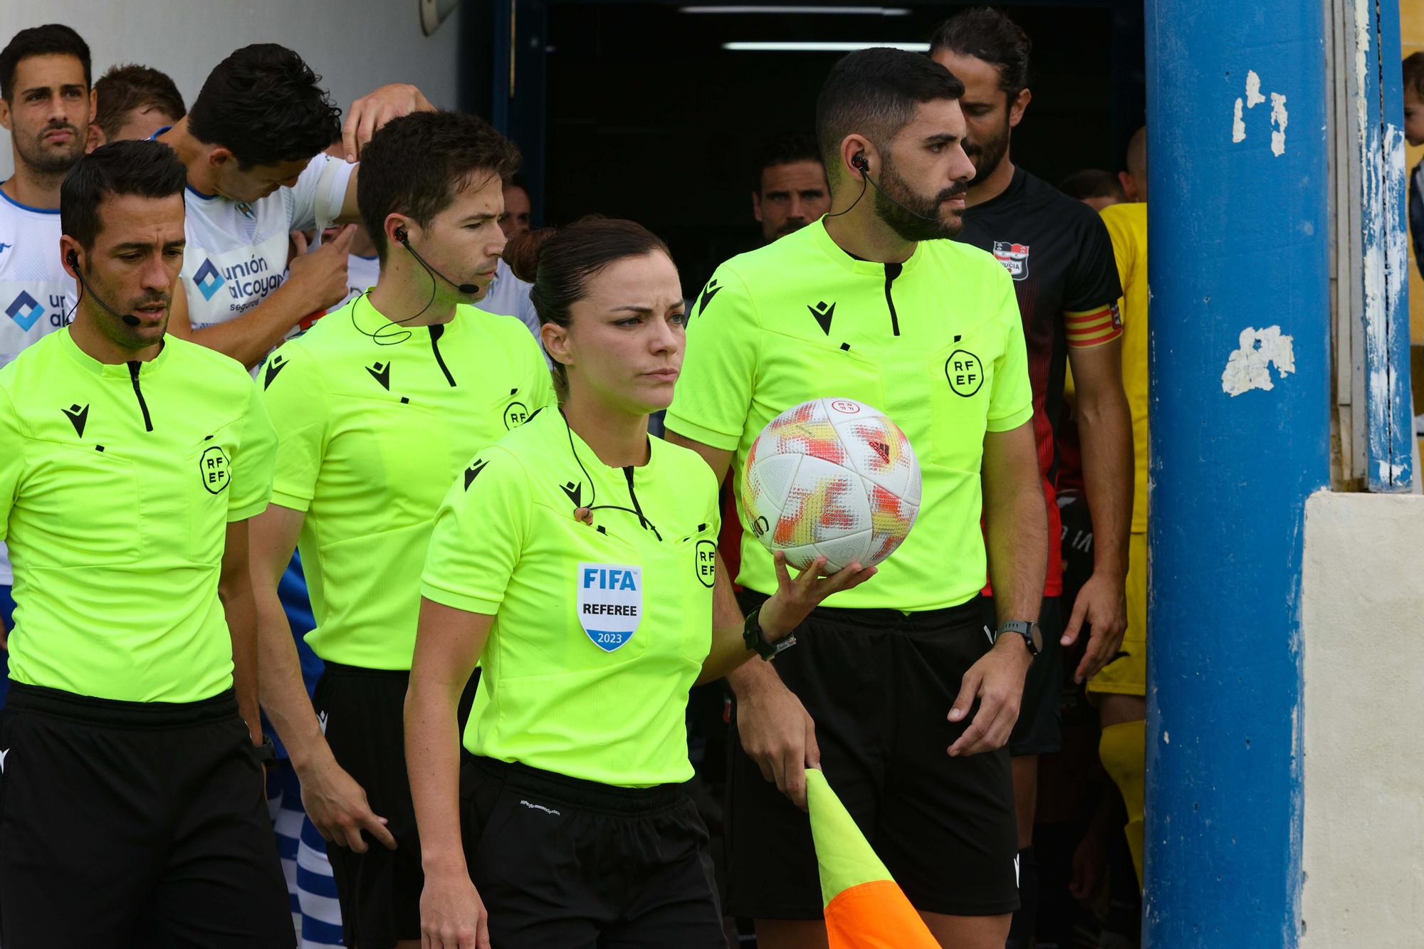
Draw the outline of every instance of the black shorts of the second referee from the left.
M460 702L461 728L478 681L476 670ZM326 845L345 940L360 949L390 949L402 939L420 939L420 891L426 878L420 869L416 805L406 777L409 683L410 673L404 670L326 663L312 695L336 764L362 787L370 809L386 818L386 829L396 838L393 851L369 835L365 854Z

